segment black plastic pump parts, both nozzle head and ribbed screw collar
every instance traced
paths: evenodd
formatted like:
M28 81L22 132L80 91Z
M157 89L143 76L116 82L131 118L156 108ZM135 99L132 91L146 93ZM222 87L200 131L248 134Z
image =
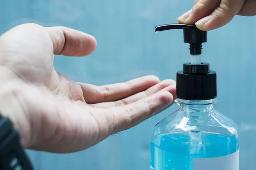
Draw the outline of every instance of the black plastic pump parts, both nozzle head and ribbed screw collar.
M190 54L202 54L202 43L207 42L207 31L185 24L167 24L155 27L156 33L169 29L183 29L184 42L190 44ZM176 96L185 100L209 100L217 96L216 72L209 64L201 62L183 64L183 70L177 72Z

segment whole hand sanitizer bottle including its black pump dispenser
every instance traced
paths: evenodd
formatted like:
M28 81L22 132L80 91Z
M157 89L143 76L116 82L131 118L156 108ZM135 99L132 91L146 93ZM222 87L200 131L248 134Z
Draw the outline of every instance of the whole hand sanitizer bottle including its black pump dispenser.
M183 29L190 44L190 62L177 72L179 109L154 127L151 169L239 170L239 138L236 124L214 109L217 104L216 72L201 62L207 31L195 26L168 24L156 33Z

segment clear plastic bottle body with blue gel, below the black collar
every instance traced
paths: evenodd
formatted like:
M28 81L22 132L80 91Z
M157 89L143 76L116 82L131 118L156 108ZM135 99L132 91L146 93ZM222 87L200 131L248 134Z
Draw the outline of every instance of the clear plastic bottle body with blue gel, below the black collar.
M180 108L154 127L154 170L239 170L236 124L213 106L216 99L176 99Z

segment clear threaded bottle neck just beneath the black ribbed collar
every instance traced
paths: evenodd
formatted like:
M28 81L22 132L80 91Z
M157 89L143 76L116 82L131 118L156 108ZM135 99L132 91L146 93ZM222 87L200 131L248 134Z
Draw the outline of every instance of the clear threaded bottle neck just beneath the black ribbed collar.
M180 106L180 110L189 113L204 113L213 109L213 106L218 103L217 99L210 100L183 100L176 99L175 103Z

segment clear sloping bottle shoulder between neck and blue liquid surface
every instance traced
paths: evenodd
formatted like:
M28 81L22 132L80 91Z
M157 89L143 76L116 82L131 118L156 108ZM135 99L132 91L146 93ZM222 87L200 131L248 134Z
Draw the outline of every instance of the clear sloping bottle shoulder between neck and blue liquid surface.
M238 138L236 123L215 109L203 113L178 109L154 127L153 136L177 133L186 135L191 131Z

